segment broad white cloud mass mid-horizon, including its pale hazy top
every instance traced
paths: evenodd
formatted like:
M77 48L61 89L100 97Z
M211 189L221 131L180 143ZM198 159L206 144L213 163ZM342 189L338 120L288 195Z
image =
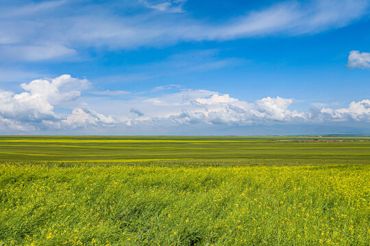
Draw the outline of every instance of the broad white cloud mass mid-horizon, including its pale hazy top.
M307 113L287 109L292 102L291 99L280 97L267 97L256 102L246 102L232 98L228 94L187 90L145 100L145 104L141 107L150 108L148 105L151 105L157 109L156 114L129 120L130 125L247 125L308 120Z

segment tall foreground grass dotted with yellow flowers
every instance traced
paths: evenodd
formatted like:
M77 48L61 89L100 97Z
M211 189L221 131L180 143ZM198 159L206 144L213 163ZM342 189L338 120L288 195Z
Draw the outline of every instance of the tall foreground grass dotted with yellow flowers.
M0 245L365 246L369 184L369 165L3 163Z

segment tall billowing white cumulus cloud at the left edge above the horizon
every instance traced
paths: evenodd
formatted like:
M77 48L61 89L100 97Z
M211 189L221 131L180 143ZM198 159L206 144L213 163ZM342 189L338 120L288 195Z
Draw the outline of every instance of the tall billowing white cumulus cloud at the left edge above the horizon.
M73 111L71 118L63 121L62 115L55 113L56 107L64 107L81 96L81 90L90 86L87 79L77 79L69 74L64 74L55 79L36 79L30 83L22 83L21 88L25 92L16 94L10 91L0 90L0 123L2 126L26 131L48 126L60 127L60 123L75 125L82 122L82 112L78 109ZM91 118L95 117L103 124L114 122L112 118L106 118L94 111L84 111L90 114L86 117L87 124L93 124ZM77 122L77 123L75 123Z

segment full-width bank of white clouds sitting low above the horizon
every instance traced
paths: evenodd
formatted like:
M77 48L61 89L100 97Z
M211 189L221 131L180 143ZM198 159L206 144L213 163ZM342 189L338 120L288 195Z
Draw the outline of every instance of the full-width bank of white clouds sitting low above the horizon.
M95 96L95 105L89 105L84 102L89 98L82 94L89 87L87 79L64 74L54 79L23 83L21 88L24 92L19 94L1 90L0 129L3 133L49 130L64 133L71 129L133 126L165 128L370 122L369 99L354 101L339 109L323 107L299 112L289 109L294 103L292 98L277 96L247 102L229 94L177 88L178 92L156 98L140 96L130 100L106 100L106 97ZM63 109L69 113L60 113Z

